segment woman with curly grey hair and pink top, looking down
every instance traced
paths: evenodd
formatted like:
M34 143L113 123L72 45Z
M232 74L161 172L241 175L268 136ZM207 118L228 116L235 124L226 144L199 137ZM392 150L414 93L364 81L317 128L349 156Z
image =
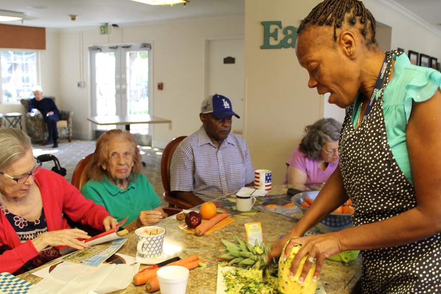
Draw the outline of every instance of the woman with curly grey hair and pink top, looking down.
M338 166L338 139L342 124L321 119L305 128L300 145L286 162L285 184L325 183Z

